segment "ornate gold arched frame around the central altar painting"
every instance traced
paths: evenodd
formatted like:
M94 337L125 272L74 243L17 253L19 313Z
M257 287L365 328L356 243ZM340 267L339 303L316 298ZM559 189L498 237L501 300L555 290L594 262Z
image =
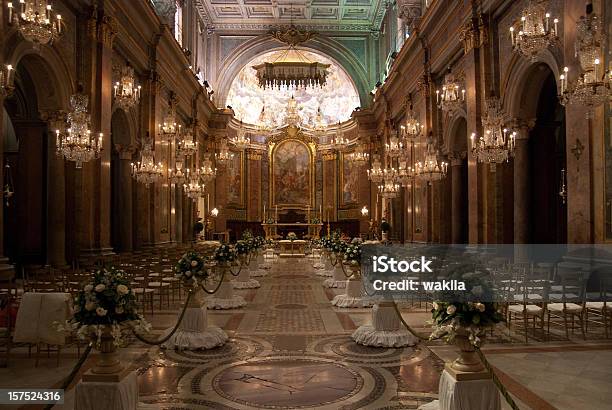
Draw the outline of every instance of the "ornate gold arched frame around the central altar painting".
M292 128L292 127L289 127L289 128ZM274 209L274 207L276 207L277 205L280 209L307 209L308 207L308 204L302 205L302 204L276 203L276 181L274 177L274 154L279 146L281 146L283 143L288 142L288 141L297 141L298 143L306 146L306 148L308 149L308 154L310 155L310 161L309 161L310 165L308 167L308 173L309 173L308 191L310 192L309 202L310 202L310 209L314 209L315 208L314 200L315 200L315 195L316 195L315 193L315 173L314 173L315 157L316 157L316 152L317 152L316 144L313 141L309 140L305 135L303 135L299 131L290 132L292 130L289 130L289 128L285 130L285 132L283 132L281 135L269 141L269 144L268 144L268 155L269 155L269 161L268 161L268 175L269 175L268 196L269 198L268 199L269 199L269 203L271 204L270 209ZM306 138L300 138L300 135Z

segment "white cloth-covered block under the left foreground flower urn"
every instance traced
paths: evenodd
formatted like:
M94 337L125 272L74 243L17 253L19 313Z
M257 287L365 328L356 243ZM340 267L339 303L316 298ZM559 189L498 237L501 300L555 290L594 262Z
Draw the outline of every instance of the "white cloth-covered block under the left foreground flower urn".
M80 382L76 386L76 410L135 410L138 378L130 372L120 382Z

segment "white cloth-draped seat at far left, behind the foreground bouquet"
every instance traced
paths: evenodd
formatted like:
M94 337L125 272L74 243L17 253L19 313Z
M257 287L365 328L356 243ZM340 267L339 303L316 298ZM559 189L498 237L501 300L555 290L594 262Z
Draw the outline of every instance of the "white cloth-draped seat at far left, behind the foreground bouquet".
M64 345L66 334L58 331L54 323L64 323L71 310L69 293L24 293L17 311L13 341Z

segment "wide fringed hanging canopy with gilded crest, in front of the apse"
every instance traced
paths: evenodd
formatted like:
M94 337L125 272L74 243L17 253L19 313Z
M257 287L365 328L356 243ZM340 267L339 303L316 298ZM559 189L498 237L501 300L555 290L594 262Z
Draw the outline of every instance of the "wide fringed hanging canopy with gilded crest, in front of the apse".
M263 89L323 87L327 82L327 70L330 65L310 61L296 48L314 35L315 33L311 31L300 31L293 25L286 31L272 33L273 38L287 44L288 47L274 61L253 66L259 86Z

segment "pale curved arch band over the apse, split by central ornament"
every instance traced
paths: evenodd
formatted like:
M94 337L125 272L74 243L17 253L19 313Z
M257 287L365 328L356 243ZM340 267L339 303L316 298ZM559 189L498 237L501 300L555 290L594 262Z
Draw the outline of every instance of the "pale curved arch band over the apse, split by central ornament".
M283 48L285 47L269 36L259 36L240 45L218 69L218 72L221 73L221 76L217 79L216 87L219 101L226 102L234 78L247 62L261 54L282 50ZM327 37L316 37L308 42L308 47L301 47L301 49L323 54L342 67L355 84L361 106L366 106L368 102L368 76L357 57L350 50Z

